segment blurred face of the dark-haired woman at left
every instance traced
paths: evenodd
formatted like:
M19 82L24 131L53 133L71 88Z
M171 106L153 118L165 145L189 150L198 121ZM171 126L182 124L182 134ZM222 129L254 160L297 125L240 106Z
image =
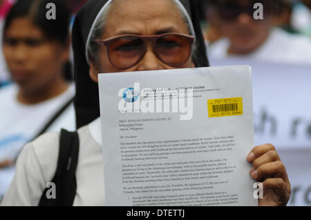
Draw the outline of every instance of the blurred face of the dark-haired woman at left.
M23 89L37 90L62 77L68 48L48 41L26 17L16 18L4 34L3 54L12 79Z

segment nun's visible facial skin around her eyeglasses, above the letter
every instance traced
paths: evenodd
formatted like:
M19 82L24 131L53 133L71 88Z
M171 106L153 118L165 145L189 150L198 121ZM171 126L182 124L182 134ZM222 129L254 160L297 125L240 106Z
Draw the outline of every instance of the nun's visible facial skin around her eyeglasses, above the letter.
M171 0L123 0L115 1L107 14L102 39L109 39L121 34L153 35L167 32L189 34L187 25ZM172 68L156 57L151 45L147 46L147 52L135 66L125 70L116 68L109 61L106 47L101 46L97 63L91 63L90 75L94 81L97 81L97 73L99 72L129 72ZM191 56L179 68L194 68Z

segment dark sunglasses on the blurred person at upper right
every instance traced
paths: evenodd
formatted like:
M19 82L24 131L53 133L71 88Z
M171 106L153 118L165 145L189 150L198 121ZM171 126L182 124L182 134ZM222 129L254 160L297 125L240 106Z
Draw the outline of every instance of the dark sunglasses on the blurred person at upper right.
M250 17L254 16L254 12L256 8L254 9L255 3L262 3L263 4L263 14L272 14L275 10L275 4L270 1L250 1L248 6L240 6L238 3L230 0L225 1L224 3L218 3L216 4L216 8L218 10L218 14L223 19L226 19L227 21L234 21L234 19L238 18L242 13L249 14ZM261 21L261 20L258 20Z

